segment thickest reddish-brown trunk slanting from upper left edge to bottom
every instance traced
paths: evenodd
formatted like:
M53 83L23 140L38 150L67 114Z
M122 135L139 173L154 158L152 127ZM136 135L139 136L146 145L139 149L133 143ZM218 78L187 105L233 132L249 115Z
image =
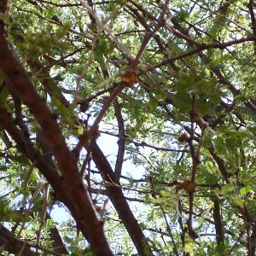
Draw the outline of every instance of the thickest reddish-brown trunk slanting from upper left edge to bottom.
M88 237L96 255L112 255L108 241L103 234L102 224L96 217L90 195L84 188L73 154L67 148L61 129L47 104L38 95L20 61L13 55L5 35L3 21L0 21L0 49L0 67L9 81L8 89L20 97L20 100L38 120L62 172L61 188L57 189L52 180L51 185L56 192L60 193L61 201L72 212L73 218L79 224L79 229L82 230L84 236Z

